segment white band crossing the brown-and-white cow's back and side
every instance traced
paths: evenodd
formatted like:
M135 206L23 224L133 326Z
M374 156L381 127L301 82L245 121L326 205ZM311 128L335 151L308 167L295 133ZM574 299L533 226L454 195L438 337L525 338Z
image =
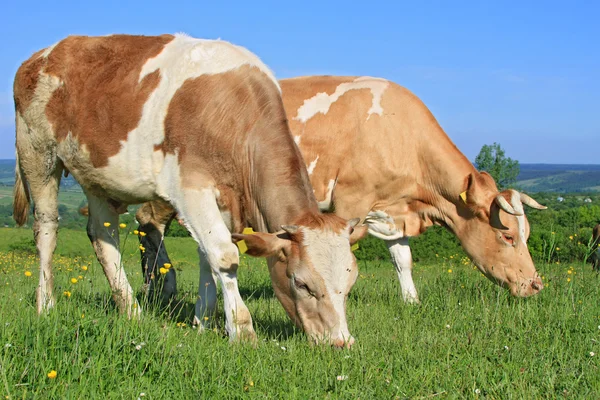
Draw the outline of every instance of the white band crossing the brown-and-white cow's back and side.
M158 175L167 168L164 165L166 158L160 154L162 152L156 152L154 146L164 141L164 121L176 91L188 79L231 71L243 65L257 67L279 87L271 71L248 50L224 41L175 35L160 54L147 60L142 67L140 82L156 70L160 72L160 82L144 104L138 126L129 132L127 141L121 142L121 150L109 159L108 166L103 168L104 174L111 180L127 182L130 190L140 192L140 197L151 196L156 189ZM173 172L174 167L172 162L166 174ZM135 171L135 176L127 175L131 171ZM174 183L162 180L158 185L171 186ZM179 184L179 180L176 183ZM165 187L156 190L161 196L177 193Z

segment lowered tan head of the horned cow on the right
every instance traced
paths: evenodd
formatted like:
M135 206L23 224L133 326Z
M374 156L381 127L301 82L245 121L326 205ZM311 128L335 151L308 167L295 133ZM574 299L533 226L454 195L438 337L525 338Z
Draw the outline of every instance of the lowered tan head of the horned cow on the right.
M516 190L498 192L487 173L473 173L461 194L466 205L459 237L479 270L513 296L526 297L544 287L527 248L529 223L523 204L538 210L546 207Z

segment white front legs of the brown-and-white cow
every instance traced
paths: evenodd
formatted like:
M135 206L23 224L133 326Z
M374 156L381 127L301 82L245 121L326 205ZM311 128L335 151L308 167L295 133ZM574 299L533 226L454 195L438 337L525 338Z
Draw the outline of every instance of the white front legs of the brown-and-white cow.
M221 217L216 190L183 190L183 202L178 205L178 211L198 242L202 259L196 319L204 324L214 309L216 289L212 272L223 289L225 328L230 340L255 340L252 317L238 289L238 249L231 242L231 233Z

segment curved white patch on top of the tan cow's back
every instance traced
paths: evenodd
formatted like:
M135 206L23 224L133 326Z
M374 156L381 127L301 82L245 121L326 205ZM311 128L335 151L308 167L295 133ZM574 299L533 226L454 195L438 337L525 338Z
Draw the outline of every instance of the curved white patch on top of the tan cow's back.
M294 117L294 119L302 123L306 123L306 121L308 121L309 119L311 119L319 113L327 114L331 105L335 103L347 91L369 89L371 90L371 94L373 95L373 103L371 104L371 108L369 108L369 111L367 112L368 121L371 117L371 114L381 115L383 113L383 108L381 107L381 96L383 95L383 92L388 86L389 82L385 79L371 78L366 76L356 78L353 82L346 82L339 85L335 89L335 92L331 95L322 92L317 93L308 100L304 100L304 104L300 106L300 108L298 109L298 115Z

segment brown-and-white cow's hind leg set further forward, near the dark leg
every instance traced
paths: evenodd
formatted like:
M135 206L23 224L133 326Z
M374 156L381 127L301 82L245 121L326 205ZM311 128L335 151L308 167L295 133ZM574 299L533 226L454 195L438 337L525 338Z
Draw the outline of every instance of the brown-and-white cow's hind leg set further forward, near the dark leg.
M108 279L113 300L119 311L127 313L129 318L137 317L141 309L121 264L119 214L105 199L92 195L87 197L90 210L88 237Z

